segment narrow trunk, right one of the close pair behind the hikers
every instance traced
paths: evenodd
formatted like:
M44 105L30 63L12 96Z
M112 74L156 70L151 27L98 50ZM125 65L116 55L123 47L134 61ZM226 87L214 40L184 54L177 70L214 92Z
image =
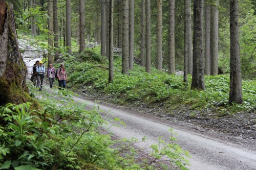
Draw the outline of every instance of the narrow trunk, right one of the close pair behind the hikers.
M54 60L59 59L59 53L58 53L58 48L59 48L59 29L58 29L58 13L57 13L57 0L53 0L53 33L54 33L54 47L56 48Z

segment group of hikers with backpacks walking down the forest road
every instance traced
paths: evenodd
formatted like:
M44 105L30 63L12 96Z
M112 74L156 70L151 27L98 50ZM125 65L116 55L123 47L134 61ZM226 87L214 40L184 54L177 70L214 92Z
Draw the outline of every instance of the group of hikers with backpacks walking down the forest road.
M42 83L44 81L45 74L46 69L45 66L42 64L42 61L36 61L33 66L33 73L30 80L33 82L34 86L39 88L39 91L42 90ZM64 64L60 64L60 67L57 70L55 70L52 64L49 64L46 76L49 79L50 88L53 87L54 79L58 80L58 89L61 90L66 88L68 76L66 74Z

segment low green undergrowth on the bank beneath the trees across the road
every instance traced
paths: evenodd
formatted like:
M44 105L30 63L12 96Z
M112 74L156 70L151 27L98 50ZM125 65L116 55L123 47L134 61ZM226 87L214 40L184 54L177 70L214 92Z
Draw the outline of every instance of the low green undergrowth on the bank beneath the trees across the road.
M121 56L114 56L114 80L108 83L108 60L100 56L100 47L87 48L82 55L66 61L69 83L73 89L93 89L118 104L164 103L166 109L186 105L191 110L211 108L218 116L254 111L256 109L256 80L243 80L243 105L228 105L229 75L205 76L205 91L190 90L182 76L168 75L152 68L147 74L137 64L130 75L121 74ZM176 108L177 108L176 107Z

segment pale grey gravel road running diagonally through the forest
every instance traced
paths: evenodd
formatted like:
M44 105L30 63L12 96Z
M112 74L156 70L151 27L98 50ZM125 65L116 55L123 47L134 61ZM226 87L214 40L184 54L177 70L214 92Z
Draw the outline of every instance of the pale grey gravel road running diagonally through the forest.
M86 104L88 108L99 107L102 116L106 120L111 116L118 117L125 127L111 126L110 130L120 138L136 137L139 140L147 137L145 143L137 143L138 147L146 144L158 143L158 137L168 141L172 128L176 141L183 150L189 151L189 169L256 169L256 153L243 148L241 145L230 143L222 139L212 138L205 134L192 132L186 127L179 127L155 116L141 114L132 110L124 109L107 104L97 104L82 98L74 97L79 103ZM110 112L112 114L110 114Z

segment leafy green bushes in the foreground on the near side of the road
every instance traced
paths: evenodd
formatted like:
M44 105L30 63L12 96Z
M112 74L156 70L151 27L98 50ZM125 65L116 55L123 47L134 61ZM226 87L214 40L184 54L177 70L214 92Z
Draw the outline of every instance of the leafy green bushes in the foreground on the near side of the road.
M148 154L138 157L141 149L135 143L141 141L106 133L109 122L123 124L118 118L106 122L100 108L86 109L68 90L50 94L31 86L30 93L39 108L31 103L0 108L0 169L167 169L162 157L174 169L187 169L188 152L172 133L169 141L159 137Z

